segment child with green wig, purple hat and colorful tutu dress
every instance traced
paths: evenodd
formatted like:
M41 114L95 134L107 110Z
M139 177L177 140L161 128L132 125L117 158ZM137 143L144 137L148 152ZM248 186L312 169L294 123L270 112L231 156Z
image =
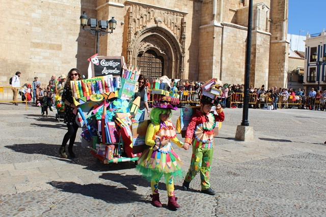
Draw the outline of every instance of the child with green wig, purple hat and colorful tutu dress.
M143 177L151 182L152 188L152 204L161 207L158 194L158 181L164 174L168 191L168 206L170 208L179 208L177 198L174 196L175 176L182 177L182 162L172 148L172 142L179 147L183 147L183 143L176 137L175 127L169 120L171 117L171 109L178 108L169 102L158 101L150 112L150 120L152 123L147 128L145 143L150 146L145 149L138 160L136 167Z

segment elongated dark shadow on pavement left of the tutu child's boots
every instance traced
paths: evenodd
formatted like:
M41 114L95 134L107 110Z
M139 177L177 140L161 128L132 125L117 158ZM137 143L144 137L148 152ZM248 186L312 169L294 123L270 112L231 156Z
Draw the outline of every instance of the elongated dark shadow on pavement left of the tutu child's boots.
M70 181L50 181L48 184L57 189L61 189L64 192L82 194L110 203L131 203L134 201L145 202L143 195L129 191L126 188L118 188L106 184L77 184Z

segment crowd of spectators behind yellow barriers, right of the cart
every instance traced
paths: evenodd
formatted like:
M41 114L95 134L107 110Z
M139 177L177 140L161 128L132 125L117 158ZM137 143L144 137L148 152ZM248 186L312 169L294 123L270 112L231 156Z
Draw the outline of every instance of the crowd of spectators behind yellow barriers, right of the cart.
M200 86L203 83L196 82L193 80L178 80L171 79L170 86L166 85L167 90L173 90L173 92L178 92L180 96L180 105L189 104L195 105L200 99ZM148 85L150 89L150 85ZM240 97L240 93L244 92L244 84L227 84L225 83L220 87L222 90L222 95L219 98L220 103L223 108L242 108L243 97ZM264 85L260 87L254 87L250 85L250 108L264 108L267 106L267 102L273 105L273 109L276 110L281 108L294 108L294 106L301 109L310 110L324 110L326 101L326 90L320 91L312 87L309 92L306 93L305 89L298 88L294 90L293 88L285 87L268 87L265 88ZM150 91L148 91L148 94ZM150 98L149 98L150 99ZM291 101L293 103L291 103ZM299 102L300 105L297 105ZM232 103L236 102L236 103ZM289 103L290 102L290 103ZM317 102L317 103L316 103ZM293 105L294 104L294 105Z

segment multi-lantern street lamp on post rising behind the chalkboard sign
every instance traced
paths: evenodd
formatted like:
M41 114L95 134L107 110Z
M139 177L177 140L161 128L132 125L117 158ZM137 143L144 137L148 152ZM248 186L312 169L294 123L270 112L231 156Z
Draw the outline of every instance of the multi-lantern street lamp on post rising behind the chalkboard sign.
M98 27L97 27L97 19L88 18L85 14L86 12L83 11L83 14L79 17L80 25L83 27L84 30L90 32L92 35L96 36L96 53L98 53L98 40L100 36L105 36L108 33L113 33L113 30L116 29L117 21L112 17L111 20L99 20ZM85 26L90 26L90 28L85 28ZM110 32L107 32L107 27L111 29Z

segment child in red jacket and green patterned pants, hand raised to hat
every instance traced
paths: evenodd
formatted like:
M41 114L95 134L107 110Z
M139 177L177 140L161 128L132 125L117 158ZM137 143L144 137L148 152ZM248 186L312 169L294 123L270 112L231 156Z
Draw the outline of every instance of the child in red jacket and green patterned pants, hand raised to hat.
M224 112L220 104L216 106L218 115L210 112L214 99L202 96L200 101L200 111L196 111L191 116L191 121L187 127L184 146L193 145L193 154L191 164L184 178L182 188L189 189L189 183L200 172L201 191L202 193L215 195L216 193L210 188L209 176L213 157L213 139L216 121L224 120Z

